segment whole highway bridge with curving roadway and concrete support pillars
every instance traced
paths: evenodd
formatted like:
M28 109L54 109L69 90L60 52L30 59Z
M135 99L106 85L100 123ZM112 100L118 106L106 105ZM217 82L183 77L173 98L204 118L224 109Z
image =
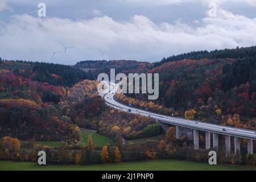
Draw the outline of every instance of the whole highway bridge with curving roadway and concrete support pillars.
M155 118L156 121L165 123L167 125L176 126L176 138L181 138L180 127L185 127L193 130L193 144L194 149L199 150L199 131L205 132L205 148L211 148L210 136L212 133L213 137L213 148L218 147L218 135L225 136L225 150L226 155L230 155L231 144L230 137L234 137L234 152L240 153L240 142L242 138L247 139L247 154L253 154L253 140L256 139L256 131L238 129L236 127L215 125L212 123L205 123L200 121L188 120L184 118L171 117L162 114L152 113L150 111L137 109L130 107L114 100L114 94L117 91L118 85L113 82L105 82L108 85L108 93L102 93L101 96L104 98L107 105L114 109L129 111L133 114L140 114L146 117Z

